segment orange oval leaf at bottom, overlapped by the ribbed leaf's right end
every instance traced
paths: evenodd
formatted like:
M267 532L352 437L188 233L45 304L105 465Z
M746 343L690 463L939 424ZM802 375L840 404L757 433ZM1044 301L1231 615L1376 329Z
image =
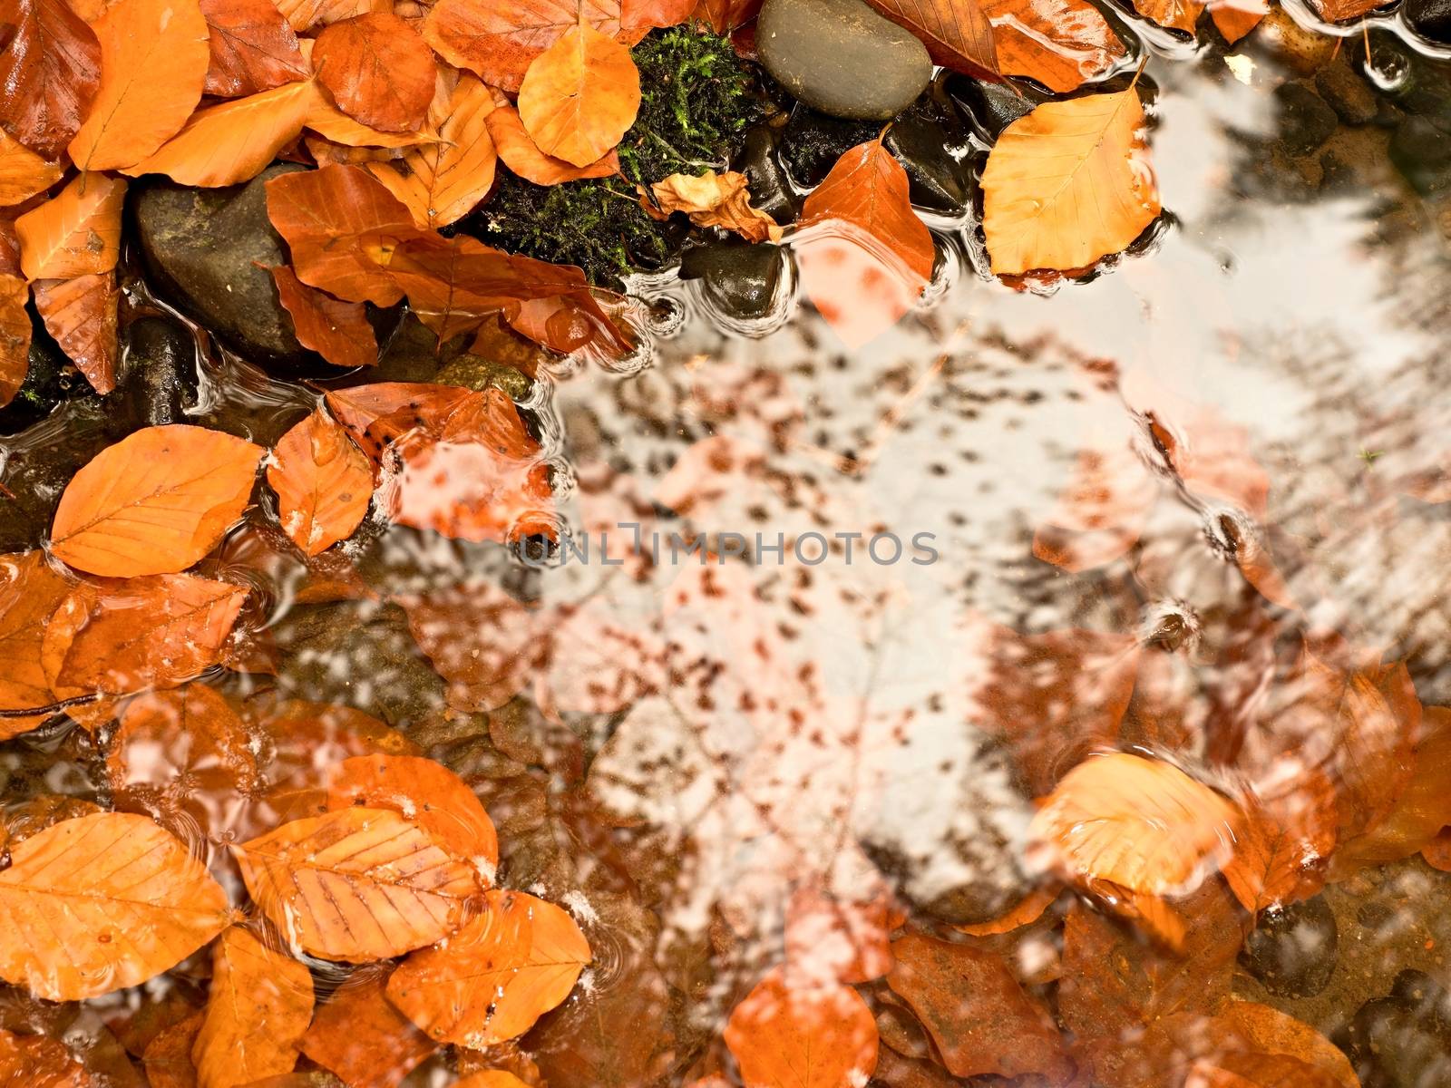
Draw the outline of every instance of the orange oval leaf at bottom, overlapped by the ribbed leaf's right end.
M477 1050L528 1031L569 997L592 956L554 904L490 891L459 933L403 960L387 997L431 1039Z

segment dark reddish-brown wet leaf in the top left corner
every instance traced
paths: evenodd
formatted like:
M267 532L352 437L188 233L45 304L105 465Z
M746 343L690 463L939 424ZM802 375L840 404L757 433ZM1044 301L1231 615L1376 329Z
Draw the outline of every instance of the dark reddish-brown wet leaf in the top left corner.
M58 158L100 86L100 42L65 0L16 0L3 22L0 129L45 158Z

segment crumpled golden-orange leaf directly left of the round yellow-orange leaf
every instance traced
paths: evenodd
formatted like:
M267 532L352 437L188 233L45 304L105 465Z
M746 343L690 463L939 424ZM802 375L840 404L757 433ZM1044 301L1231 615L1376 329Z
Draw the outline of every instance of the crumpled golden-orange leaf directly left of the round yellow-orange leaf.
M493 186L498 154L489 135L493 91L463 73L447 99L428 107L428 129L437 141L411 148L395 162L369 171L414 213L421 228L461 219Z

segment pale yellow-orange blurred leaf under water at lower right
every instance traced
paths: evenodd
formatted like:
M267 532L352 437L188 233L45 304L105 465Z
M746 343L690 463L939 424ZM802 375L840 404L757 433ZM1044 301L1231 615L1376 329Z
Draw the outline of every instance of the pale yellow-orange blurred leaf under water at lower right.
M1239 809L1171 763L1116 753L1069 770L1033 817L1030 857L1066 881L1193 889L1229 857Z

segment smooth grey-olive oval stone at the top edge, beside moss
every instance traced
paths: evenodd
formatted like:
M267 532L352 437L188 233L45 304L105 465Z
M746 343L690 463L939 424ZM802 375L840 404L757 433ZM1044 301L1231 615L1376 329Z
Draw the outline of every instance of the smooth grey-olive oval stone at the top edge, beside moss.
M860 0L766 0L756 49L791 94L833 118L887 120L932 78L927 48Z

